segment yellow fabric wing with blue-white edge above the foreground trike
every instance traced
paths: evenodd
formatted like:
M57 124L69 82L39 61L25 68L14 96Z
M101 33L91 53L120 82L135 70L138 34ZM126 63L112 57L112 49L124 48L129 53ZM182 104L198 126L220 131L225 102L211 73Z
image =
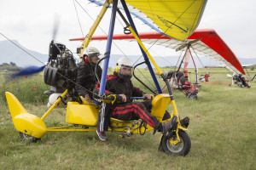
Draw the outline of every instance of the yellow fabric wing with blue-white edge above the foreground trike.
M89 0L102 6L103 0ZM130 13L166 37L184 41L198 26L207 0L125 0ZM111 6L110 6L111 7ZM122 9L119 3L119 9Z

